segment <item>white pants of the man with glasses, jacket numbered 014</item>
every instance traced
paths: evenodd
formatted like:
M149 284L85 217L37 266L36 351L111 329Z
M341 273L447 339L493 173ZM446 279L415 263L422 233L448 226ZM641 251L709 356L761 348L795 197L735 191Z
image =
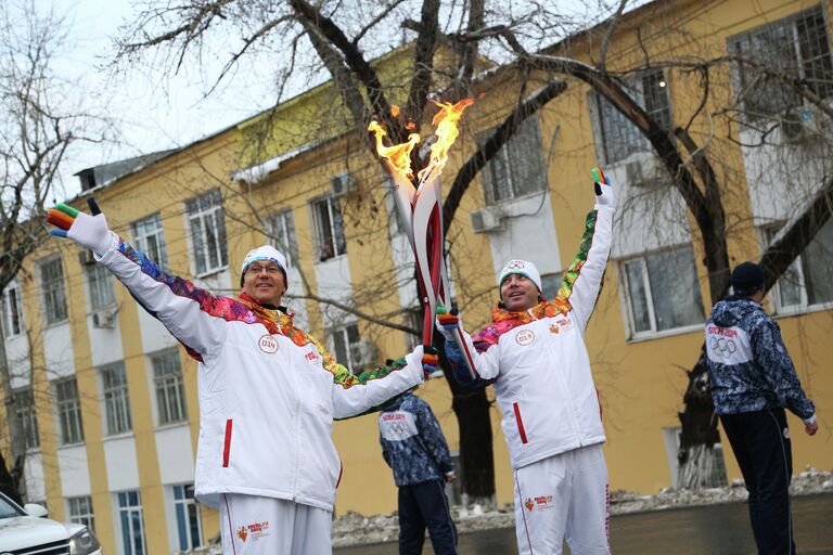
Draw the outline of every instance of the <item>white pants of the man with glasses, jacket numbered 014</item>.
M332 529L323 508L239 493L220 500L223 555L331 555Z

